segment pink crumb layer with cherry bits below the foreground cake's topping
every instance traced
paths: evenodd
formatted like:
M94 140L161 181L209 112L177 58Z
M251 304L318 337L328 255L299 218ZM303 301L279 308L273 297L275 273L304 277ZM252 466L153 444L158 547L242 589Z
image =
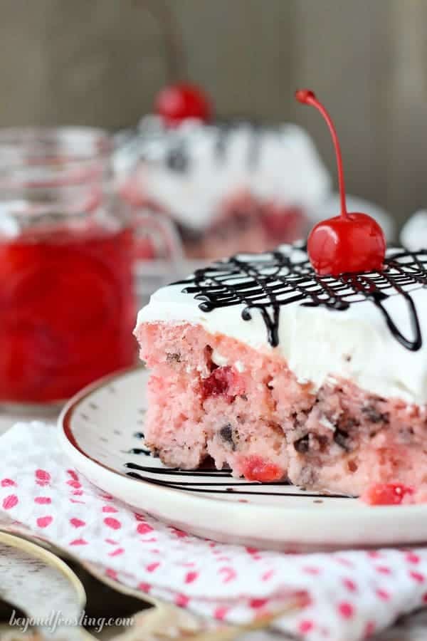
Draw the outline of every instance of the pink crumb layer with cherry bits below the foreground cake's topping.
M359 496L373 484L427 491L427 409L349 380L313 391L274 350L253 350L189 323L142 323L152 369L145 436L168 466ZM226 355L218 367L213 353ZM233 364L238 364L236 367Z

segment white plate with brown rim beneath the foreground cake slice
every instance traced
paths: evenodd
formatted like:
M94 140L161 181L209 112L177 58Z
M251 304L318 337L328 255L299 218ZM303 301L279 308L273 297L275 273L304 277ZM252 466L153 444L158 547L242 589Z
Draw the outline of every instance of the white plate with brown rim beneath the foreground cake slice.
M60 442L75 467L134 509L216 541L271 549L427 541L427 505L369 507L226 471L164 467L144 449L147 377L141 368L103 379L70 400L59 419Z

